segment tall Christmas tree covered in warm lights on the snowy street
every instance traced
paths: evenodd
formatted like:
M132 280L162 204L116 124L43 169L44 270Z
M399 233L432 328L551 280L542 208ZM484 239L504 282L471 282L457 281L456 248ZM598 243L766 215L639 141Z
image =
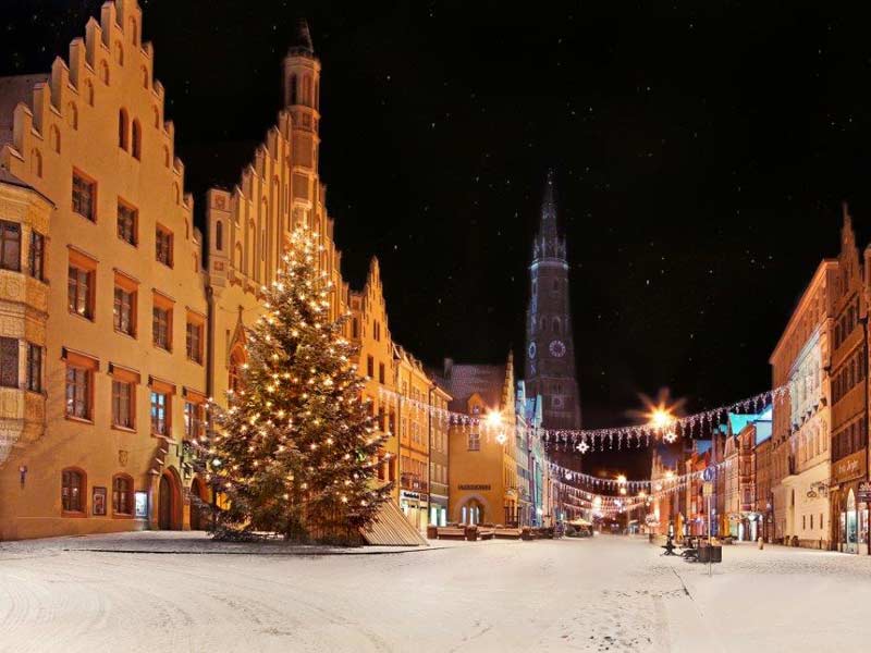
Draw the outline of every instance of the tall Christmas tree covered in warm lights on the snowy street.
M218 535L281 533L293 540L357 537L389 497L375 480L376 429L347 315L330 318L333 284L317 261L317 234L297 229L265 313L247 333L247 362L217 429L207 465L224 494Z

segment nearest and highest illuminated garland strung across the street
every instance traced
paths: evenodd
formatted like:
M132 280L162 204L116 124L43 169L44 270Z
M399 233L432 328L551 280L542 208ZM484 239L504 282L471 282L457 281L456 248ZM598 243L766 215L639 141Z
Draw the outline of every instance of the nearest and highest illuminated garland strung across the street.
M639 448L642 444L650 445L650 441L675 442L678 438L694 438L702 435L706 428L711 429L714 424L724 422L729 412L761 412L764 408L780 403L787 398L786 385L781 385L773 390L759 393L752 397L720 406L711 410L704 410L687 417L675 417L668 422L667 427L653 424L639 424L636 427L618 427L613 429L536 429L528 427L530 433L537 434L550 447L562 451L577 451L586 454L589 451L604 451L605 448ZM378 395L381 401L391 399L402 402L416 411L429 412L433 419L439 419L443 423L462 424L471 428L477 427L488 438L496 438L504 431L504 426L495 422L490 423L487 416L471 416L463 412L454 412L444 408L430 406L426 402L405 397L387 387L379 387Z

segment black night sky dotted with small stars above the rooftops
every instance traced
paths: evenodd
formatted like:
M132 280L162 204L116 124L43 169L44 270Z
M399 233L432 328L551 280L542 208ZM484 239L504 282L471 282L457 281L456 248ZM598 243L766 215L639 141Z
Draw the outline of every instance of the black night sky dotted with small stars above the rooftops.
M99 4L4 0L0 73L47 71ZM143 2L200 204L274 121L295 17L310 20L345 275L359 286L380 258L394 337L428 362L523 354L554 167L588 427L661 386L689 409L766 387L837 251L842 199L871 235L868 16L661 4Z

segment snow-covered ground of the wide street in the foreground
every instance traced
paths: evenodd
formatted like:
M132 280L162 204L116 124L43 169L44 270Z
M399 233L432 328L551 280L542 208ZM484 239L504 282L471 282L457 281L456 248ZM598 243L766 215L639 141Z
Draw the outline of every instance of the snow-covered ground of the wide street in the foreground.
M735 545L709 578L659 552L609 535L327 556L188 533L0 543L0 651L869 650L868 556Z

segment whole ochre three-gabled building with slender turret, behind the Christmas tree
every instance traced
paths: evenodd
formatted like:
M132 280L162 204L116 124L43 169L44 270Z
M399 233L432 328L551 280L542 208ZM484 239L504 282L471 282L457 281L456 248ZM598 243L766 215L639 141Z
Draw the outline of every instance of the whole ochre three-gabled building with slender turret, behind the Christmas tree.
M352 295L318 174L307 26L275 126L234 188L207 194L203 251L142 23L136 0L107 2L69 61L0 78L0 540L205 526L210 489L188 443L206 434L208 397L237 384L245 330L298 225L320 238L332 316L348 313L361 374L373 358L366 394L395 432L378 264ZM382 459L382 481L396 480L396 438Z

